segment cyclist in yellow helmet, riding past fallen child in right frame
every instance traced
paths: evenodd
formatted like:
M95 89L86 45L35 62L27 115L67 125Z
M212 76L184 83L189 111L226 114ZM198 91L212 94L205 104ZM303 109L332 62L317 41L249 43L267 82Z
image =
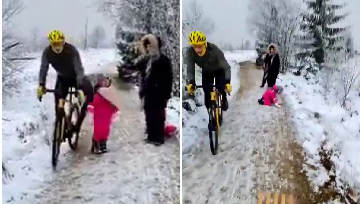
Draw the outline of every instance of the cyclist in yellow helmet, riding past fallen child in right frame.
M201 31L193 31L189 34L189 44L191 45L186 51L187 77L188 77L188 93L191 94L195 90L195 64L202 69L202 85L205 93L205 106L209 111L211 102L210 92L212 91L210 84L222 86L218 87L222 94L222 110L228 109L225 88L231 93L231 68L225 59L224 53L211 42L206 42L206 36Z

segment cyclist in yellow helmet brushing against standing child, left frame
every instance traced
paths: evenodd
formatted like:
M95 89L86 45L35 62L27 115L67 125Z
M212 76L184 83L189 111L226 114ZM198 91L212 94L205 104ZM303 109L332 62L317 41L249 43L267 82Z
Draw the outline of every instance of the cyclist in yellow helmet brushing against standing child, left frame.
M74 131L79 131L85 118L88 103L93 102L93 86L84 76L84 68L75 46L65 42L65 37L59 30L52 30L48 34L49 46L45 48L41 57L39 70L39 86L37 96L45 94L46 77L51 65L57 72L55 89L60 90L60 95L55 94L55 114L57 112L59 98L66 98L69 87L76 87L83 106ZM85 100L85 96L87 100Z

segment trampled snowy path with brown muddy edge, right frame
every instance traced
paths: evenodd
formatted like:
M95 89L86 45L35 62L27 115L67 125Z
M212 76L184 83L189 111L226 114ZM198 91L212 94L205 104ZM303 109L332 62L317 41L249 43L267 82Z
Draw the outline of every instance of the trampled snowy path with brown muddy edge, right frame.
M241 64L240 89L225 114L218 154L211 155L205 130L201 149L183 155L183 203L256 204L260 192L267 204L277 193L278 203L282 194L290 204L290 197L297 204L325 199L311 193L286 109L257 104L265 90L261 77L253 64Z

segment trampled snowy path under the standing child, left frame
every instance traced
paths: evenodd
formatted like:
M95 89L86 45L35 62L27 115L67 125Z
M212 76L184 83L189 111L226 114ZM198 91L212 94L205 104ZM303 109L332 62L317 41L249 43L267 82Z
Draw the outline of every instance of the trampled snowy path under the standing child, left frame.
M58 170L29 204L113 204L180 202L180 145L176 140L155 147L145 144L144 116L138 94L118 84L122 116L113 126L109 152L91 155L92 126L82 126L77 152L62 144ZM50 151L49 151L50 154ZM46 156L46 158L48 158Z

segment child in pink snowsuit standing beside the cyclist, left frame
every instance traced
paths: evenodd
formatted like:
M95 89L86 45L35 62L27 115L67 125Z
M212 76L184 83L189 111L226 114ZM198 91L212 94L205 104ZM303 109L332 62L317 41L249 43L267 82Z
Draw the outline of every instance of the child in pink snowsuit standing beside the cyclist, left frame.
M93 113L94 132L92 149L94 154L107 152L107 140L110 126L120 114L120 99L111 80L108 77L100 76L94 87L94 99L89 103L88 111Z

